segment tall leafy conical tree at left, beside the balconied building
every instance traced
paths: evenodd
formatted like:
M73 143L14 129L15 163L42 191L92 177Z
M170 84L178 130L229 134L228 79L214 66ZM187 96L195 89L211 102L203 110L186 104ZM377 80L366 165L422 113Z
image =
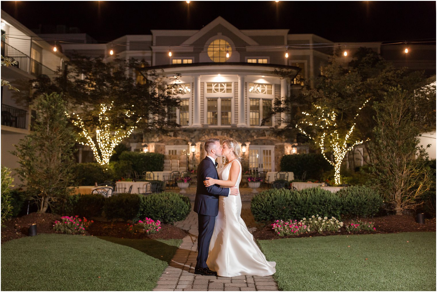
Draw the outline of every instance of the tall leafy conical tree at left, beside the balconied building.
M73 130L65 115L66 102L57 93L43 94L34 102L33 131L21 139L16 150L17 174L25 181L27 193L45 212L52 202L66 198L73 185Z

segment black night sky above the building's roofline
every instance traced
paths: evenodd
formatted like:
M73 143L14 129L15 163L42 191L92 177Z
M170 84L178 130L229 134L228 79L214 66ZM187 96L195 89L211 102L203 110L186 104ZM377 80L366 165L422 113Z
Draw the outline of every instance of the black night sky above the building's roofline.
M334 42L436 38L435 1L2 1L1 8L28 28L65 24L99 41L200 29L218 16L239 29L285 28Z

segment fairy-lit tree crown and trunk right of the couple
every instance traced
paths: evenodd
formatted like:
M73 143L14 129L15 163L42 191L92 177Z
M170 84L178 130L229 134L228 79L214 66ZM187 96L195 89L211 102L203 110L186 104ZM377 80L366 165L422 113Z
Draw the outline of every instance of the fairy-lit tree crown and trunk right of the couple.
M360 111L362 108L364 108L368 101L369 100L366 100L358 110ZM335 183L341 184L340 168L344 156L346 156L346 154L351 151L354 146L364 143L363 140L357 140L354 142L352 142L351 140L352 133L355 129L355 121L358 113L354 116L353 125L351 125L348 130L342 130L336 122L335 111L328 111L327 109L324 109L316 104L313 104L313 106L316 108L316 113L310 114L308 112L302 112L305 117L299 122L299 124L301 125L296 125L296 128L298 128L302 134L309 137L309 139L314 140L316 145L319 146L323 157L325 157L325 159L334 166ZM316 129L314 129L314 136L312 136L310 133L306 132L303 129L307 126L313 128L316 127ZM345 133L344 136L341 134L342 132ZM326 156L326 153L329 151L331 151L333 154L333 160L329 159L329 157Z

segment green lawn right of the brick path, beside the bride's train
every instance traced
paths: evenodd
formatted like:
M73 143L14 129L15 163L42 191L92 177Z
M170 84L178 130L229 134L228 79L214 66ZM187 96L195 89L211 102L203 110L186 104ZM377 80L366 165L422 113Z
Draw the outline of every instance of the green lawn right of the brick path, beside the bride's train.
M276 261L274 278L282 291L436 291L435 232L317 236L258 243L267 260Z

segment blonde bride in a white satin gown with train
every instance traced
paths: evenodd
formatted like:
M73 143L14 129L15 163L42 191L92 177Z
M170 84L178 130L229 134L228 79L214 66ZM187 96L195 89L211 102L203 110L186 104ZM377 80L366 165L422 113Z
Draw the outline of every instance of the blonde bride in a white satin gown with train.
M218 171L216 180L206 177L205 186L220 184L221 187L239 187L241 181L240 146L235 140L225 140L222 144L225 166ZM218 215L209 244L206 263L221 277L269 276L276 272L274 261L267 261L253 236L240 217L241 197L219 197Z

